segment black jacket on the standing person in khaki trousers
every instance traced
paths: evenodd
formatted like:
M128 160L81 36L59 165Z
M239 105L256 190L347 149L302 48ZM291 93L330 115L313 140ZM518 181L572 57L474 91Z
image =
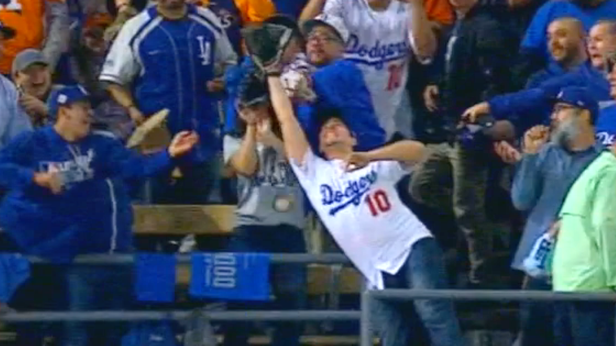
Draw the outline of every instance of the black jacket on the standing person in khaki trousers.
M441 117L457 122L466 108L511 91L509 68L516 41L498 16L483 7L456 20L431 68L431 84L439 86Z

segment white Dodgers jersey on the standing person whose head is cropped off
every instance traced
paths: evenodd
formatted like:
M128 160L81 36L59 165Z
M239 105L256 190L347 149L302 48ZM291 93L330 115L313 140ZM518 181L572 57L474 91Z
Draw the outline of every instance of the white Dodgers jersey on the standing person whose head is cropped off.
M411 56L409 10L408 4L392 1L387 10L376 12L365 0L327 0L323 9L342 18L349 30L346 58L362 70L387 135L403 130L396 120L400 107L408 108L401 111L411 116L410 104L404 99Z

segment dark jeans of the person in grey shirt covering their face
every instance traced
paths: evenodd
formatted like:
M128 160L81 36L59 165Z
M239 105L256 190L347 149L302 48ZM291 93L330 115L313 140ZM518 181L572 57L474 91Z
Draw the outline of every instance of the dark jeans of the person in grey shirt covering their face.
M233 231L229 244L232 252L306 252L306 242L301 229L291 225L240 226ZM298 310L306 305L306 267L304 264L275 264L270 268L270 282L275 294L274 310ZM233 310L254 310L268 304L257 302L232 302ZM248 345L252 324L230 323L225 326L225 346ZM273 346L299 346L302 323L274 323Z

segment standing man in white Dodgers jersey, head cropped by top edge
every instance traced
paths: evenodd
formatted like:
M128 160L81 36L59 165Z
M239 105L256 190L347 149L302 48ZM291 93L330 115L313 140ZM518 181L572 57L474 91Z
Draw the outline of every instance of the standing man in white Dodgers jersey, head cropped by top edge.
M342 18L351 33L345 57L362 70L387 135L413 135L406 89L411 49L424 62L437 47L423 2L326 0L323 13Z

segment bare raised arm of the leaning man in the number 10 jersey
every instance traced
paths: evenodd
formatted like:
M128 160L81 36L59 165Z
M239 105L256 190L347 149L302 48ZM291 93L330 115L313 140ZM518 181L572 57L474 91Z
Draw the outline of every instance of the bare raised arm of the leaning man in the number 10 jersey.
M285 88L282 86L282 82L280 82L280 77L268 76L267 84L269 86L272 107L278 118L278 123L280 123L286 156L301 163L304 156L306 156L306 152L310 149L306 134L304 134L304 130L299 126L299 121L293 112L293 105L291 105L291 100L286 95Z

